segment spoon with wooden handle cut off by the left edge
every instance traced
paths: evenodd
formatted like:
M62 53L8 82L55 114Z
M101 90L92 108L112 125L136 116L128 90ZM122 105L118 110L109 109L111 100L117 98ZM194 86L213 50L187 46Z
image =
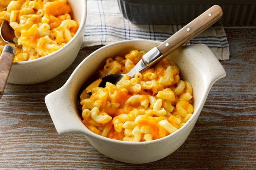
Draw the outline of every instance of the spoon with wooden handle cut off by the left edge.
M14 30L7 21L3 21L0 27L0 35L7 42L0 56L0 98L4 93L4 88L11 71L12 62L15 56L15 44L18 44Z

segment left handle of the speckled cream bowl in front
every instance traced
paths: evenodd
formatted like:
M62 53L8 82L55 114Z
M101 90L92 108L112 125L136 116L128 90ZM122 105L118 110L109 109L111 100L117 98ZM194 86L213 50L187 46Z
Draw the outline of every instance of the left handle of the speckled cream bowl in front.
M59 134L81 133L88 134L88 129L77 114L75 99L67 92L69 88L63 86L45 96L45 104Z

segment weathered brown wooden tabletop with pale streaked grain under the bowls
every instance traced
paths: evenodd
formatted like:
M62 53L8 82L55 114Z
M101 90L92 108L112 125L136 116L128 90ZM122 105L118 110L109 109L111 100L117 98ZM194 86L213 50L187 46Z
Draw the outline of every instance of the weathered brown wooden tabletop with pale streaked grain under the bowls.
M102 155L81 134L59 135L44 98L98 47L83 48L62 74L33 85L7 83L0 99L0 169L256 169L256 28L225 27L230 60L194 129L174 153L136 165Z

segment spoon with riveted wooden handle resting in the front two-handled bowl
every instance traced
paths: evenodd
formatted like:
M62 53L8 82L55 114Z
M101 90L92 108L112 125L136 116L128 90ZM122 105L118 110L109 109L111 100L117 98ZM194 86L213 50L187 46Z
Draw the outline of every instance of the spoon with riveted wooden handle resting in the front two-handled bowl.
M105 87L106 82L116 84L123 76L133 77L137 72L141 72L148 67L151 67L169 55L171 52L181 47L193 37L199 35L205 29L210 27L216 21L218 21L222 16L222 9L218 5L214 5L207 11L202 13L196 19L191 21L185 27L181 28L178 32L173 34L159 46L154 47L146 54L143 55L142 59L129 71L127 74L110 74L103 76L102 78L91 83L85 90L80 93L83 98L89 98L91 95L91 90L95 87ZM79 94L79 96L80 96ZM81 109L80 98L78 96L78 108Z

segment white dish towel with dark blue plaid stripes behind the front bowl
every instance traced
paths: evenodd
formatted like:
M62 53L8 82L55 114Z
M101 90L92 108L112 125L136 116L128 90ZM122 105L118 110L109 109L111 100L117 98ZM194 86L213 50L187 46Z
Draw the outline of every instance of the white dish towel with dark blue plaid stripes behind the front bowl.
M121 14L117 0L87 0L82 47L129 39L165 41L181 25L133 24ZM229 59L229 43L222 26L210 27L187 44L206 44L219 60Z

